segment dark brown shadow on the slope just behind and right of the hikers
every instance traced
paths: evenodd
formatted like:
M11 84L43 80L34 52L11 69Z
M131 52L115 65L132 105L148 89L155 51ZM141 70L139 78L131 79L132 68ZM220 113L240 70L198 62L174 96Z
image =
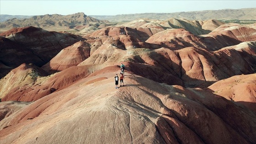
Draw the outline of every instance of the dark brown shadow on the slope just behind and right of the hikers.
M163 55L151 52L149 57L153 60L154 65L147 64L142 58L137 55L134 62L130 62L130 71L136 75L154 80L167 85L181 85L184 87L199 87L204 88L212 85L216 81L198 80L186 76L185 69L174 63L171 58L167 59ZM185 78L186 79L183 79Z

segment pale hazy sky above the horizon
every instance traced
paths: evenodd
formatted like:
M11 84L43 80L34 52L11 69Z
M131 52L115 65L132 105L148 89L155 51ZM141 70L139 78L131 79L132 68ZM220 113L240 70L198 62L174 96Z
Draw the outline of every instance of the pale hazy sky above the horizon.
M0 0L1 15L119 15L255 8L256 0Z

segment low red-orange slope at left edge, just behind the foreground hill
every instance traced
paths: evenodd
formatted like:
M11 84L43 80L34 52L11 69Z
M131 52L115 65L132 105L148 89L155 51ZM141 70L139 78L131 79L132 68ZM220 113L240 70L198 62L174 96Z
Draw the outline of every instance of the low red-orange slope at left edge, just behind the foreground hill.
M43 96L47 96L61 88L67 87L77 80L85 78L89 74L90 71L86 69L86 66L70 67L54 75L38 77L36 80L30 81L27 81L27 79L29 79L29 74L27 74L25 77L28 78L23 81L21 80L22 84L16 83L16 85L18 85L17 87L14 87L16 85L12 85L9 81L6 81L16 78L12 78L8 74L1 80L1 83L3 83L3 89L1 90L9 90L3 91L1 95L2 101L36 101ZM20 79L22 78L20 75L17 76ZM25 82L27 83L24 84Z

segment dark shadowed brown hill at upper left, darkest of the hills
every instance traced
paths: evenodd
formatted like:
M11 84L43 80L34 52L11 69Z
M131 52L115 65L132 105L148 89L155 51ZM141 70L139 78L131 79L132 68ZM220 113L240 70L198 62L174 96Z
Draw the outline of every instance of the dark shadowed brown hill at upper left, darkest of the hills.
M14 28L0 36L0 61L11 68L23 63L41 67L63 48L84 40L70 33L48 32L38 27ZM3 74L6 75L9 70L6 69Z

